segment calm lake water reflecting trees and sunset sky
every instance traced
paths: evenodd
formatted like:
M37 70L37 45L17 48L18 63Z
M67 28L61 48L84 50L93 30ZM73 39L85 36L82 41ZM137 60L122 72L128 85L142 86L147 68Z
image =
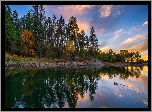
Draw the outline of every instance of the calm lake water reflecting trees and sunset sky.
M148 67L5 69L6 108L148 108Z

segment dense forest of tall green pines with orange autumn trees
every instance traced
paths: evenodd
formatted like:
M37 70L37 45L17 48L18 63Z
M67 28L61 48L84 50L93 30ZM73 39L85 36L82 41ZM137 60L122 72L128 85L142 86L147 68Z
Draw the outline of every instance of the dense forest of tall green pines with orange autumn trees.
M21 57L46 59L90 60L97 58L102 62L145 62L140 52L110 49L102 52L94 27L90 35L79 31L76 17L65 23L62 15L59 19L45 16L43 5L33 5L26 15L19 18L17 11L5 6L5 52ZM148 62L148 60L146 61Z

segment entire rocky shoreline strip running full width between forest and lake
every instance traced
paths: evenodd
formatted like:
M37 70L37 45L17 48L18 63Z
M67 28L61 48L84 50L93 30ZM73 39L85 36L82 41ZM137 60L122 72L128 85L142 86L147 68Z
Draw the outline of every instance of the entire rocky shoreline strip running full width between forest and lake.
M102 63L101 61L88 61L88 62L12 62L5 61L6 68L47 68L47 67L64 67L64 68L100 68L101 66L143 66L146 64L127 64L127 63Z

